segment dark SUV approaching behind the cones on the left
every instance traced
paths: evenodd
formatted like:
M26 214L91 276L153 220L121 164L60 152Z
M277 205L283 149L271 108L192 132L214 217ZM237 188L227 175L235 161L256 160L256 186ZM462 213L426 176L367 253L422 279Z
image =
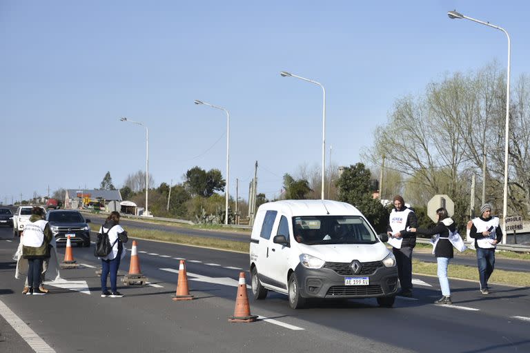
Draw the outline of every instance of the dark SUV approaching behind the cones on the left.
M52 210L46 214L46 221L50 222L50 229L57 243L70 242L77 245L90 246L90 219L85 219L79 211Z

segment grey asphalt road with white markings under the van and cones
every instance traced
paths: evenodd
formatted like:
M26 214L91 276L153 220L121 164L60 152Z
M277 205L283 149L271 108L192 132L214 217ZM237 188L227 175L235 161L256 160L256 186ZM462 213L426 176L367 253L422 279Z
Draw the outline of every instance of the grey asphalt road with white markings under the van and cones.
M13 276L18 239L11 236L0 229L1 352L31 352L26 340L48 352L530 352L529 288L495 285L484 296L475 283L451 281L454 305L440 307L432 303L440 296L438 280L415 276L415 298L397 297L393 308L364 299L292 310L286 296L269 293L250 299L252 314L263 319L228 323L247 254L139 239L141 270L155 286L119 288L124 298L103 299L92 248L73 248L84 265L61 276L81 288L48 285L46 296L23 296ZM193 301L171 301L180 258ZM8 321L23 325L14 330Z

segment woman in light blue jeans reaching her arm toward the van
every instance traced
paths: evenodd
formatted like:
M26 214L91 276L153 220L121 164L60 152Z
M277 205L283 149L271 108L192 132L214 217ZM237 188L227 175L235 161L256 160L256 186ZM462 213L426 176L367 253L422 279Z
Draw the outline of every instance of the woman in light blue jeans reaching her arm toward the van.
M449 241L449 231L455 232L455 222L445 208L438 208L436 210L438 214L438 223L433 228L422 229L422 228L411 228L417 234L437 236L437 240L434 243L434 256L436 256L436 262L438 263L438 280L440 281L440 289L442 290L442 298L435 301L435 304L452 304L451 301L451 289L449 288L449 279L447 278L447 267L449 261L453 259L453 244Z

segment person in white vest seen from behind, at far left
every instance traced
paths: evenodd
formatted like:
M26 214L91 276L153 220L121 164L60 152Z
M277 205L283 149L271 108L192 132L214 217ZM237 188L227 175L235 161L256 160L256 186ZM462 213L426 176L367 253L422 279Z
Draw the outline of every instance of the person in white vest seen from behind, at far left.
M48 245L52 240L52 231L48 221L43 219L44 211L40 207L31 210L30 221L24 226L22 241L22 256L28 260L27 295L46 294L39 289L41 283L42 262L50 257Z

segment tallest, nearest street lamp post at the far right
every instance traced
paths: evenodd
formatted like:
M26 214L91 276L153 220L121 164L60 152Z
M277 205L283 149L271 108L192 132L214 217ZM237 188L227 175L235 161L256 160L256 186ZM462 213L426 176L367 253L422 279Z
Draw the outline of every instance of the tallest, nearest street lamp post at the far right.
M447 12L450 19L469 19L497 30L501 30L508 38L508 69L506 72L506 127L504 128L504 191L502 196L502 243L506 244L506 217L508 216L508 148L509 148L509 119L510 119L510 35L504 28L492 25L489 22L480 21L454 11Z

